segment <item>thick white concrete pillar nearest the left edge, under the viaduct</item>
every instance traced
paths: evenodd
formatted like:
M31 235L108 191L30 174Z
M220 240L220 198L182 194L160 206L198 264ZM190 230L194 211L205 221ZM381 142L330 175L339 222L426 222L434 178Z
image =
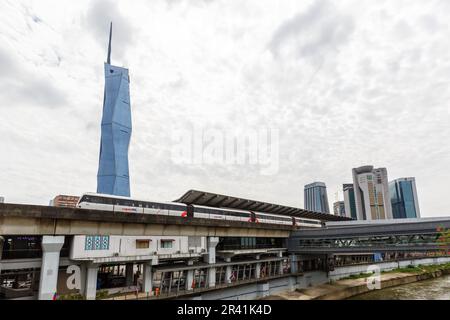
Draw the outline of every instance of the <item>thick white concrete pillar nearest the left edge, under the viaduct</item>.
M42 265L39 281L39 300L52 300L56 293L59 270L59 253L64 245L64 236L42 237Z

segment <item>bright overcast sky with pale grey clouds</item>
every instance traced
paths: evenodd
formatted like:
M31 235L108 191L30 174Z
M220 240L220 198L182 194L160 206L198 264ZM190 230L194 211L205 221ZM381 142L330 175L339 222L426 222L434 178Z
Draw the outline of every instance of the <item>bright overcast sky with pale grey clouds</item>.
M130 69L133 197L189 189L303 207L351 169L416 177L450 216L450 1L0 2L0 196L96 191L103 63ZM172 132L279 130L279 170L180 165Z

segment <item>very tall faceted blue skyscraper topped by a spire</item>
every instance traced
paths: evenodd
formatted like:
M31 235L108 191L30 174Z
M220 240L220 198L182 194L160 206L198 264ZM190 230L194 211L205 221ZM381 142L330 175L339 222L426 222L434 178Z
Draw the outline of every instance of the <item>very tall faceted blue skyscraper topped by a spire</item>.
M105 63L100 160L97 192L130 196L128 147L131 138L130 77L128 69L111 64L112 23Z

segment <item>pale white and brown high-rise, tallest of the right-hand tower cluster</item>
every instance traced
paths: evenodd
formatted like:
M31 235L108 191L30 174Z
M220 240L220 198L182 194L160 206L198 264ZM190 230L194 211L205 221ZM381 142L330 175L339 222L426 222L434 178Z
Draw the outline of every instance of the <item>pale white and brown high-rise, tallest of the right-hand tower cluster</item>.
M386 168L355 168L353 187L358 220L393 219Z

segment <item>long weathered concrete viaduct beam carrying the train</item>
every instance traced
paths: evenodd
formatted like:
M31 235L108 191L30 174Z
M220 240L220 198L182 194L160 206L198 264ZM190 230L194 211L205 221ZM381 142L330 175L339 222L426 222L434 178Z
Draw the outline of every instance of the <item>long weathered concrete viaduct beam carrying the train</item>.
M0 204L0 235L117 235L288 238L293 226Z

